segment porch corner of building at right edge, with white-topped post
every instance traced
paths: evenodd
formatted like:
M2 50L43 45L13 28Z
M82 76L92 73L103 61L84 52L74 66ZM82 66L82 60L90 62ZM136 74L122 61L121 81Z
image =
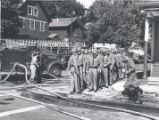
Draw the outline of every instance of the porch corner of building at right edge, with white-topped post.
M145 32L149 33L149 24L152 24L151 37L151 78L159 80L159 1L158 0L140 0L139 7L146 13ZM145 34L145 35L147 35ZM149 37L149 36L147 36Z

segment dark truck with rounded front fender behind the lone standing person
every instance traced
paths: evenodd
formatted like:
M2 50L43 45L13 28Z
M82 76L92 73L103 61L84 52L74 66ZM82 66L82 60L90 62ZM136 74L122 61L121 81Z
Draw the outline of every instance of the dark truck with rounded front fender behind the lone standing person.
M24 47L24 48L5 48L1 50L1 72L10 71L13 64L18 62L21 63L29 69L29 63L31 61L31 51L36 47ZM61 76L61 71L66 69L67 61L65 56L54 54L53 52L48 52L43 49L40 50L40 63L41 71L47 71L55 76ZM17 71L22 71L18 69Z

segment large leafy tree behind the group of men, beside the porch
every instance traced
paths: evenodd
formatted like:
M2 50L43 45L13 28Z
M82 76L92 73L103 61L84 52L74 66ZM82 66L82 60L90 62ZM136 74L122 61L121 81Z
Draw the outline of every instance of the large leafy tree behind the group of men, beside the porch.
M143 40L144 15L131 0L98 0L90 7L87 21L96 24L88 29L92 43L117 43L123 47Z

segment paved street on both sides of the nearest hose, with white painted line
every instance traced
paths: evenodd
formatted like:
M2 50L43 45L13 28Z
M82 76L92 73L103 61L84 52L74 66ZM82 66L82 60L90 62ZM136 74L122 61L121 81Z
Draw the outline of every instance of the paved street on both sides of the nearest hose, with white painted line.
M0 120L77 120L76 118L45 108L42 105L9 96L0 97ZM73 113L91 120L148 120L143 117L111 110L97 110L78 107L59 107L61 110Z

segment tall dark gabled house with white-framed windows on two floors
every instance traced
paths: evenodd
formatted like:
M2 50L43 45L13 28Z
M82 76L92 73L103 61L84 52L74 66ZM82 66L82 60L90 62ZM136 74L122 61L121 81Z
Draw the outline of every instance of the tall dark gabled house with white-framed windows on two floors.
M49 31L49 18L41 1L26 0L19 8L22 27L19 37L25 39L46 39Z

